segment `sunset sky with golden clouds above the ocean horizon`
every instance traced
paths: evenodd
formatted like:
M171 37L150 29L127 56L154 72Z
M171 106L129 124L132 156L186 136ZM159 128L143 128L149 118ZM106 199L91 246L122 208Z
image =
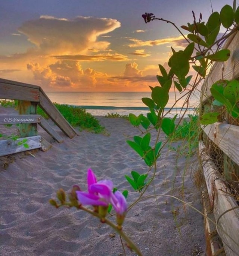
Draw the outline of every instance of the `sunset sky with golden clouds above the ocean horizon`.
M150 91L178 27L233 0L0 0L0 78L44 91ZM183 30L182 30L183 31ZM187 31L183 33L186 35Z

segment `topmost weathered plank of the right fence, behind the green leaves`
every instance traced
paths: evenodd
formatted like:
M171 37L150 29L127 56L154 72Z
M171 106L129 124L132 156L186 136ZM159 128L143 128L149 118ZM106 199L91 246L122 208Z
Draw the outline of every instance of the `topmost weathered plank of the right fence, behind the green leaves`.
M223 48L231 51L227 61L215 62L202 86L202 100L207 100L211 96L210 88L212 84L220 79L232 80L239 78L239 33L232 34Z

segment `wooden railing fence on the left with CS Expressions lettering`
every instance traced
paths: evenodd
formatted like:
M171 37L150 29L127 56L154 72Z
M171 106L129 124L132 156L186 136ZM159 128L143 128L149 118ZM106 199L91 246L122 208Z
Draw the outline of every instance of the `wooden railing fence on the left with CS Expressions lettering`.
M49 123L40 115L37 115L37 105L43 109L49 118L69 138L78 133L65 120L55 105L50 101L40 86L10 81L0 78L0 99L18 100L18 115L0 115L0 125L21 124L19 132L21 138L0 141L0 156L17 153L35 148L46 150L49 147L44 138L37 135L37 124L49 133L59 143L63 142L60 136ZM24 147L23 138L27 139L28 147Z

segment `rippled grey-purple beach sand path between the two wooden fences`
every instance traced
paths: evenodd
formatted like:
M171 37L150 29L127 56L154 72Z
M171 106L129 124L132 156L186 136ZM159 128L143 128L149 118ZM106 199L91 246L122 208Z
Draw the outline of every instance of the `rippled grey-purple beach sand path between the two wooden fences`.
M0 114L2 111L6 112L1 108ZM54 126L64 138L59 144L39 128L52 148L33 153L35 157L15 154L13 162L1 170L0 255L124 255L119 235L106 224L76 208L56 209L48 202L56 198L60 188L69 192L78 184L87 190L88 168L98 180L111 179L119 190L127 189L129 205L138 198L139 193L133 192L124 175L132 170L143 174L148 168L125 141L140 133L122 118L97 118L109 135L81 132L69 139ZM165 141L165 135L161 139ZM163 196L138 202L128 211L123 225L144 256L205 255L203 216L167 196L179 197L202 211L200 193L192 181L197 169L196 155L186 159L167 145L162 150L155 180L144 196ZM109 219L115 221L115 216ZM125 251L136 255L127 247Z

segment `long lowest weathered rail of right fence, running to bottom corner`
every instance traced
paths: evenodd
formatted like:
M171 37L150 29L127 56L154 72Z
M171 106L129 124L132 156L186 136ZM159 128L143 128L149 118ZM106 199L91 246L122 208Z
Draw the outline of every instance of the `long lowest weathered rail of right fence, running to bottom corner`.
M206 153L205 145L199 141L204 178L207 185L209 201L217 223L217 232L223 242L227 256L238 256L239 252L239 209L229 189L223 182L215 164Z

